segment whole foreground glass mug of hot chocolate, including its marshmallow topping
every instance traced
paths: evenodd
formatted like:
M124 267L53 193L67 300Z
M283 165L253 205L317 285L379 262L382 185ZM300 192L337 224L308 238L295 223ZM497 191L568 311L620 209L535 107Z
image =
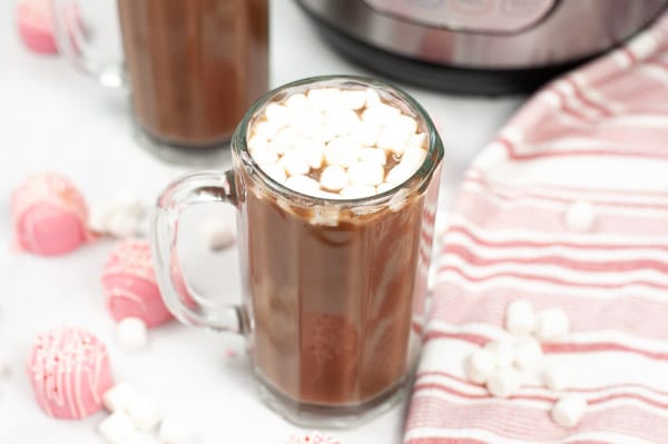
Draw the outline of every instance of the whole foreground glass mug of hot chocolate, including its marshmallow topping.
M382 129L385 148L351 151L350 131L364 126ZM232 152L232 169L190 174L158 198L151 241L165 303L186 324L245 335L263 399L295 423L348 426L389 408L420 345L443 158L433 122L383 82L311 78L258 100ZM336 185L335 170L350 179ZM210 201L237 210L240 305L196 294L180 273L180 215Z

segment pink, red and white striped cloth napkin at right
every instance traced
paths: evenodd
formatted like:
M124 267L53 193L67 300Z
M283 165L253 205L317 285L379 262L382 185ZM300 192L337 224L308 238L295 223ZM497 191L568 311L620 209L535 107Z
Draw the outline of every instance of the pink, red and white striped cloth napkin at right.
M564 219L580 201L587 231ZM468 171L438 266L405 443L668 443L668 16L520 109ZM543 351L588 401L572 428L537 377L494 398L464 376L514 299L570 318Z

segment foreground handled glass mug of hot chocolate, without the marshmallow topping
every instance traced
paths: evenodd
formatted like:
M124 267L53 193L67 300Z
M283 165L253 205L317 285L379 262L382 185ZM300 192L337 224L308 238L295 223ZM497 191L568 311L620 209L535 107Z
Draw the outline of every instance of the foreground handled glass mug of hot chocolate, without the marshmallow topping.
M312 87L375 88L428 134L422 166L386 193L348 200L274 181L248 152L249 128L268 102ZM244 335L261 397L294 423L344 427L390 408L405 393L421 343L443 158L433 122L389 85L316 77L259 99L232 154L232 169L187 175L158 198L151 241L167 307L185 324ZM237 210L240 305L194 294L180 274L181 211L212 201Z

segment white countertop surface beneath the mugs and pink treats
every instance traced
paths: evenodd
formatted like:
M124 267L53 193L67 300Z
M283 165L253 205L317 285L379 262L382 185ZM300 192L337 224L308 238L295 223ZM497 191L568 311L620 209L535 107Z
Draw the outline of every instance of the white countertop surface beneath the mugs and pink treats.
M292 1L273 0L272 7L273 85L313 75L364 73L324 45ZM521 99L407 90L442 130L446 209L470 158ZM11 369L10 377L0 379L0 443L102 442L96 426L104 413L80 422L56 421L32 398L24 375L27 354L39 332L61 325L98 335L109 347L117 379L139 385L166 411L190 422L203 443L283 443L296 427L259 403L243 354L226 356L228 349L243 352L240 338L171 323L151 332L146 353L127 355L118 348L99 283L110 241L57 258L11 251L10 193L40 170L70 177L88 198L125 186L148 204L186 168L165 165L137 145L121 93L98 87L63 59L26 50L16 32L14 1L0 0L0 361ZM193 248L203 249L203 243L193 241ZM199 260L193 280L234 298L239 286L236 251L193 256L191 262ZM405 405L332 434L346 444L400 443Z

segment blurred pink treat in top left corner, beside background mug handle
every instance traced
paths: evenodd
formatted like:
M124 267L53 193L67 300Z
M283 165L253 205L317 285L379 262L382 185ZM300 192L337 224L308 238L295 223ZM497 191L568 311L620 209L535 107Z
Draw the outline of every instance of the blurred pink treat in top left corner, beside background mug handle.
M56 53L53 19L49 0L19 0L19 32L28 48L41 53Z

